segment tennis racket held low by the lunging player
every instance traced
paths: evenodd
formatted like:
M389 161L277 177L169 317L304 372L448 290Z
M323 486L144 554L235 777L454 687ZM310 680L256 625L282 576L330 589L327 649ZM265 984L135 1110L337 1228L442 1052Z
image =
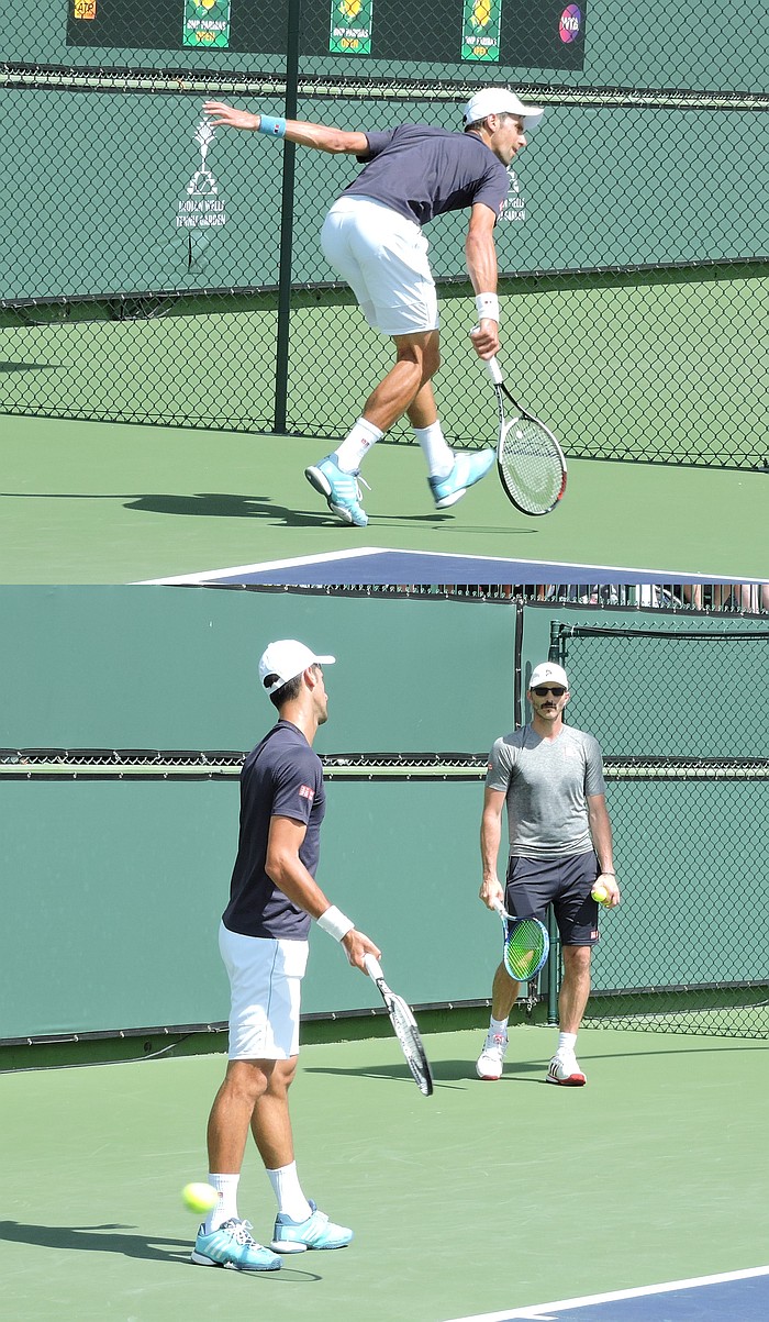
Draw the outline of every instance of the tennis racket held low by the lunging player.
M497 391L497 469L505 493L522 514L550 514L566 490L566 457L552 432L522 408L502 379L495 358L486 362ZM505 399L513 405L505 412Z

